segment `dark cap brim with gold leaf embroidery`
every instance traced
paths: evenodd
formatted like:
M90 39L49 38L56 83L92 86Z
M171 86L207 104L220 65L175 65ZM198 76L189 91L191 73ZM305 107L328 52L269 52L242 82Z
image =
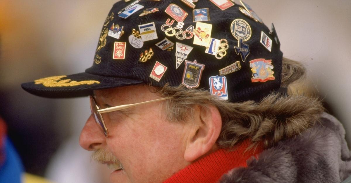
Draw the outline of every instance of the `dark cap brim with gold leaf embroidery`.
M23 83L21 87L31 94L47 98L83 97L91 95L93 90L143 83L143 80L99 76L86 72L68 75L54 81L46 78L36 81Z

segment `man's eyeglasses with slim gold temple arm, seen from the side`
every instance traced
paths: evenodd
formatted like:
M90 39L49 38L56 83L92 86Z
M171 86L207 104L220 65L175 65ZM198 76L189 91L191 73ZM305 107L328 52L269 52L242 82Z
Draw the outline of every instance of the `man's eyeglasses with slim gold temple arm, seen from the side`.
M118 111L118 110L126 109L126 108L129 108L129 107L133 107L133 106L153 103L153 102L157 102L157 101L161 101L161 100L167 100L167 99L170 99L170 98L172 98L172 97L165 97L165 98L160 98L160 99L155 99L155 100L150 100L150 101L145 101L145 102L140 102L140 103L135 103L135 104L125 104L125 105L119 105L119 106L107 107L107 108L104 108L104 109L100 109L100 107L97 105L94 97L90 96L90 110L91 110L91 113L92 113L92 115L94 117L95 122L99 125L99 127L102 129L102 132L104 132L105 136L107 137L108 136L108 130L107 130L105 121L102 118L102 115L101 115L102 113Z

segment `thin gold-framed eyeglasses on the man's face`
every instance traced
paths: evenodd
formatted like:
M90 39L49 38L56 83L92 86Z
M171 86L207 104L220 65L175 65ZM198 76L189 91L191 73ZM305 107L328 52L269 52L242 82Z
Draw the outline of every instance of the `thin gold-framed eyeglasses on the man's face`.
M96 121L95 117L94 117L94 120L96 122L96 124L102 129L102 132L104 132L104 135L107 137L108 136L108 130L107 130L107 127L106 127L106 124L105 124L105 121L104 121L104 118L102 118L102 115L103 113L108 113L108 112L113 112L113 111L119 111L119 110L123 110L123 109L126 109L126 108L130 108L130 107L134 107L134 106L138 106L138 105L142 105L142 104L148 104L148 103L153 103L153 102L157 102L157 101L162 101L162 100L167 100L167 99L170 99L172 97L164 97L164 98L159 98L159 99L155 99L155 100L149 100L149 101L145 101L145 102L139 102L139 103L135 103L135 104L125 104L125 105L119 105L119 106L114 106L114 107L107 107L107 108L104 108L104 109L100 109L100 107L98 106L95 98L93 96L89 96L95 103L95 108L96 108L96 112L97 114L99 115L100 117L100 120L101 120L101 123L105 129L102 129L102 126L100 125L100 122ZM92 104L90 104L92 105ZM94 114L92 114L94 115ZM106 132L106 133L105 133Z

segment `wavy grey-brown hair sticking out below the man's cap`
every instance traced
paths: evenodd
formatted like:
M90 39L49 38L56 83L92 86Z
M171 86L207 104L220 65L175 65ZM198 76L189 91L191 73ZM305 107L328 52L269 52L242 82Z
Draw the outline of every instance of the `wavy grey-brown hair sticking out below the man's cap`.
M303 82L305 67L296 61L283 58L282 86L300 80ZM302 80L302 81L301 81ZM291 89L290 89L291 91ZM194 106L207 109L215 106L222 118L222 128L217 140L221 148L232 148L245 139L252 147L264 142L266 147L300 134L318 121L324 108L318 98L281 93L271 93L259 102L252 100L230 103L211 96L203 89L184 89L184 86L165 85L157 92L173 98L165 101L169 121L186 121L193 118Z

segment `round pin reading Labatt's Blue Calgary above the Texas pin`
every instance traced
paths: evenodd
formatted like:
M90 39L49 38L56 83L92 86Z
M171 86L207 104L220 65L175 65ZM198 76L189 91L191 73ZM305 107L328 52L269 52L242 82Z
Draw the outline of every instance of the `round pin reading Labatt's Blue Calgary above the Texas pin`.
M233 20L230 30L233 36L239 40L239 38L243 39L243 41L247 41L251 37L251 27L249 23L247 23L243 19L235 19Z

